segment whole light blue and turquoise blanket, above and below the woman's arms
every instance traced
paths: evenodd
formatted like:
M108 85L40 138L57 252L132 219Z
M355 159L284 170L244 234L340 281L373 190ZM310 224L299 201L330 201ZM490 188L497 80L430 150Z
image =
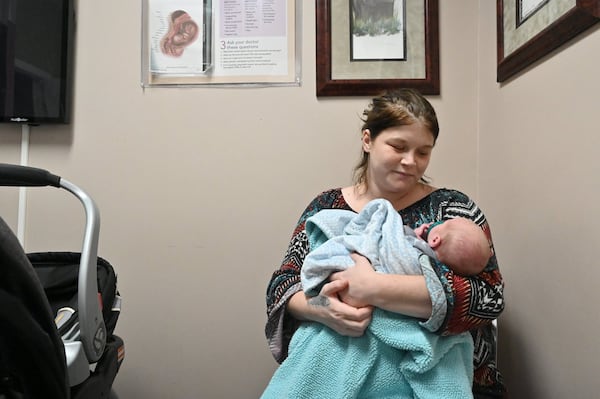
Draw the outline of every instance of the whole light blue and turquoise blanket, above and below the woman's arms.
M318 246L302 267L303 288L306 282L308 290L318 291L331 272L352 266L349 254L354 251L367 256L380 272L414 271L414 260L403 263L406 250L414 249L403 248L401 218L387 201L372 201L358 215L319 212L307 220L306 229L311 249ZM358 338L320 323L303 323L262 398L463 399L472 397L472 374L470 334L442 337L414 318L375 309Z

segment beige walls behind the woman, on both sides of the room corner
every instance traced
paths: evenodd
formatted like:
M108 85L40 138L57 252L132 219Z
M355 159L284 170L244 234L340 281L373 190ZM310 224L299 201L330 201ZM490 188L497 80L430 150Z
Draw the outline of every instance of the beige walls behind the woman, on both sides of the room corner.
M145 91L141 2L79 3L75 117L32 128L29 163L81 185L100 207L99 252L124 297L116 389L122 398L258 397L275 369L263 334L267 281L307 202L349 182L367 98L315 97L313 2L302 5L301 87ZM478 199L490 219L507 282L500 360L513 396L575 397L575 384L587 397L600 358L591 295L600 33L500 87L493 2L440 3L442 95L430 98L442 131L428 174ZM0 126L2 161L19 162L20 132ZM17 195L0 190L14 227ZM81 212L66 194L29 190L26 249L77 250Z

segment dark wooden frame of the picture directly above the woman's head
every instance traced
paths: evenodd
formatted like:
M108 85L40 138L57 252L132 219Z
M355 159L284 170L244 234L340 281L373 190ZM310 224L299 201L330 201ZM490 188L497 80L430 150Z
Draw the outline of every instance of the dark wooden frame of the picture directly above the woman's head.
M408 87L422 94L440 94L438 0L425 3L424 79L332 79L331 0L316 0L317 96L377 95L394 87Z

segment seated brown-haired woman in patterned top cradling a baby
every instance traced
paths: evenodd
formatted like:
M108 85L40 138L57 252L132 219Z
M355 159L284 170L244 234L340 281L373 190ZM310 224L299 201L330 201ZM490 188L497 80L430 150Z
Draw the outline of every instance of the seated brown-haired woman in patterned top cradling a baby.
M316 297L300 284L300 268L309 251L305 221L323 209L360 212L371 200L384 198L412 228L454 217L467 217L491 234L485 216L465 194L438 189L424 178L439 133L435 111L418 92L401 89L376 97L363 113L362 159L352 186L318 195L308 205L292 235L279 270L267 290L266 335L273 356L282 362L301 321L322 323L339 334L361 336L373 307L422 320L438 334L471 331L475 342L474 395L501 397L502 378L495 365L495 338L490 321L504 308L502 276L495 255L474 277L454 274L430 259L422 276L375 273L369 261L353 255L356 266L334 273ZM355 308L347 303L368 303ZM479 396L478 396L479 395Z

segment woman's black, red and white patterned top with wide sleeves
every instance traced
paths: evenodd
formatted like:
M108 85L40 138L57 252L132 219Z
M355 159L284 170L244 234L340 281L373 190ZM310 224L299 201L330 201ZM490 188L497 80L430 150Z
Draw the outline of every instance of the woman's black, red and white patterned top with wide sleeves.
M273 273L267 288L265 333L269 348L279 363L287 357L290 339L300 323L285 310L289 298L302 290L300 268L309 251L305 221L323 209L353 211L346 203L341 188L325 191L313 199L302 213L282 265ZM471 219L488 235L493 250L491 232L483 212L459 191L438 189L399 213L404 223L412 228L456 217ZM423 274L433 311L431 318L422 322L422 326L441 335L470 331L475 343L474 393L501 396L504 384L496 368L496 338L491 321L504 309L504 285L495 254L477 276L459 276L434 259L430 259L430 264L431 269L424 268Z

